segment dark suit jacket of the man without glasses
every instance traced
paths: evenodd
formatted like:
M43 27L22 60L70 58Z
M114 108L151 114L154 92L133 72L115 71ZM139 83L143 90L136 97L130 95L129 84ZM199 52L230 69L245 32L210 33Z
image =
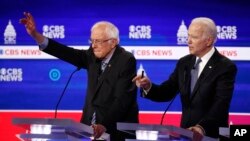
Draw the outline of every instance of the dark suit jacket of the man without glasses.
M195 56L181 58L167 81L153 84L146 95L154 101L169 101L180 93L181 127L201 125L207 136L218 137L218 128L228 126L228 114L237 68L217 50L207 62L190 98L190 71Z

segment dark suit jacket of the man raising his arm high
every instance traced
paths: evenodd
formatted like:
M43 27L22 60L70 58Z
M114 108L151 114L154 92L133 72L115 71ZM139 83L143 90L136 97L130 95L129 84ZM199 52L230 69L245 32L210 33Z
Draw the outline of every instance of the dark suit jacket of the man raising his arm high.
M101 61L95 58L91 47L76 50L49 40L43 51L87 70L88 88L82 123L90 125L95 111L97 124L107 128L111 140L121 140L116 122L138 122L137 89L132 83L136 76L136 60L131 53L117 45L105 71L100 74Z

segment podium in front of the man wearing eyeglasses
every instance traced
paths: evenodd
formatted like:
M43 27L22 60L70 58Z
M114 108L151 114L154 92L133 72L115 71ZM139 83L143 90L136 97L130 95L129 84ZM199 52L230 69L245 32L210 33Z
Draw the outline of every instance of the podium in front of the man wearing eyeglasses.
M17 134L22 141L91 141L91 126L72 119L54 118L13 118L12 124L26 130ZM102 140L109 141L109 134L104 133Z

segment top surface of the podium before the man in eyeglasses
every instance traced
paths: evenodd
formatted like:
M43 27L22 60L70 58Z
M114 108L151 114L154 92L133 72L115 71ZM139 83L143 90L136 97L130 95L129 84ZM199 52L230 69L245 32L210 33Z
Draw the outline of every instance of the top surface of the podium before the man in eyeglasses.
M12 124L20 126L28 131L28 134L22 134L22 136L43 136L42 134L47 133L32 133L32 128L37 128L39 130L44 130L49 128L50 135L59 135L58 133L71 134L77 136L91 137L93 135L93 128L86 124L76 122L72 119L55 119L55 118L13 118ZM45 135L48 136L48 135ZM101 138L109 140L109 134L103 133Z

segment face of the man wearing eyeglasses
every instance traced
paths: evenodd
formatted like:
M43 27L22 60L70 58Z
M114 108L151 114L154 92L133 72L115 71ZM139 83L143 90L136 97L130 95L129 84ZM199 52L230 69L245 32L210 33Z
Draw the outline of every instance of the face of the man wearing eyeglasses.
M116 45L116 40L109 38L103 27L95 28L91 33L93 52L98 59L104 59Z

